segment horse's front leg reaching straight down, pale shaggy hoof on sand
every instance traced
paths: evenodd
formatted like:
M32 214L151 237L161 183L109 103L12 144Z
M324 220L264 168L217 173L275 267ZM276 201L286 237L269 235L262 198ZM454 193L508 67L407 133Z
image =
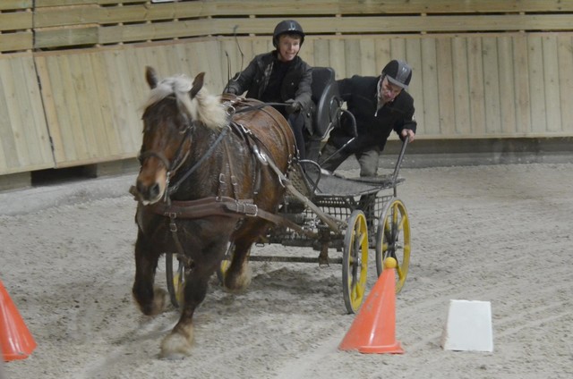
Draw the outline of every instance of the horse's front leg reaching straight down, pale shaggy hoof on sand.
M205 270L197 266L185 280L184 304L181 310L179 322L161 342L160 358L179 359L191 355L193 341L192 316L207 294L210 275L215 271L215 266Z

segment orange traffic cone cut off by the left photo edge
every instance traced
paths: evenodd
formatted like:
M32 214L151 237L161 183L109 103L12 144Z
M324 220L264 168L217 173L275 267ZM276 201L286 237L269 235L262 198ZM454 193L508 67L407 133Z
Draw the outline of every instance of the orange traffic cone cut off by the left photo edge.
M28 358L32 350L36 349L36 341L20 316L0 281L0 342L4 361Z

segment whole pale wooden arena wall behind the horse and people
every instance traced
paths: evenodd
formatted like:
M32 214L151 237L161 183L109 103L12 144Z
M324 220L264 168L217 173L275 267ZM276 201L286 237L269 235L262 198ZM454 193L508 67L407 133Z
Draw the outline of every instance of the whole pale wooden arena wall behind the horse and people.
M338 78L410 63L420 139L573 136L573 2L2 0L0 174L136 156L145 65L220 92L286 17Z

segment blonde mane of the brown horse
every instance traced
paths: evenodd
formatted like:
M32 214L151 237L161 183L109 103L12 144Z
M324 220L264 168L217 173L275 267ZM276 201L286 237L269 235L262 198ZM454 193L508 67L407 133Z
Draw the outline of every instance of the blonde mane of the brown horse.
M210 129L221 129L227 124L227 111L221 105L219 95L211 95L207 88L201 90L191 98L192 80L186 75L172 76L158 82L156 88L151 89L148 100L143 105L147 109L165 97L175 95L184 105L184 109L192 120L202 122Z

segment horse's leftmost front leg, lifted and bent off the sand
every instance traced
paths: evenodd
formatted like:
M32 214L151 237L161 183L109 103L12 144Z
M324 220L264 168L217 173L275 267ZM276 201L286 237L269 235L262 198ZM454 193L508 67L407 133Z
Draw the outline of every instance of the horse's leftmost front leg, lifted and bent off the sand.
M135 280L132 293L141 312L147 316L161 313L169 300L167 291L153 287L159 255L139 231L135 242Z

